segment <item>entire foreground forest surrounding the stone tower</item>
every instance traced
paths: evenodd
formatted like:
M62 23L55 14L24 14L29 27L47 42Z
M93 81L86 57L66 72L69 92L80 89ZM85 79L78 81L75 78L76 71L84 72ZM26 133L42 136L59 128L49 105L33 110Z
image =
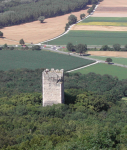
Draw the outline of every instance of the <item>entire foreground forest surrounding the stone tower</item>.
M42 107L43 70L0 71L1 150L127 149L127 79L65 73L65 104Z

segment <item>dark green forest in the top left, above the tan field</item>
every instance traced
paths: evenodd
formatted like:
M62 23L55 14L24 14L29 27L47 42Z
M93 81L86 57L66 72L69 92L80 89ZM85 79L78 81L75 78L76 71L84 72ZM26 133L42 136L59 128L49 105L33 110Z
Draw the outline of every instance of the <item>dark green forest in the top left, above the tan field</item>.
M9 0L0 1L0 27L64 15L85 9L98 0Z

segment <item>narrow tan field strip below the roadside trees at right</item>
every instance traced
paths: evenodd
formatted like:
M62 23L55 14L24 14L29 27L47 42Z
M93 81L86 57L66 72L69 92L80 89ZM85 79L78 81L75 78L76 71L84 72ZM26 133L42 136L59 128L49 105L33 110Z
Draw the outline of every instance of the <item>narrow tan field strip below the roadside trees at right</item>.
M127 52L88 51L88 54L95 55L95 56L112 56L112 57L125 57L125 58L127 58Z

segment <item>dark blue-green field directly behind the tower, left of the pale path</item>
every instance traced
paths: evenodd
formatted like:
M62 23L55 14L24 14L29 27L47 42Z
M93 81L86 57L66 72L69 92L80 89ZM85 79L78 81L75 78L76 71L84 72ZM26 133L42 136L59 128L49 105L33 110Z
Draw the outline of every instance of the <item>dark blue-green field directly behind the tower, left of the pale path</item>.
M94 61L49 51L0 51L0 70L55 68L71 70Z

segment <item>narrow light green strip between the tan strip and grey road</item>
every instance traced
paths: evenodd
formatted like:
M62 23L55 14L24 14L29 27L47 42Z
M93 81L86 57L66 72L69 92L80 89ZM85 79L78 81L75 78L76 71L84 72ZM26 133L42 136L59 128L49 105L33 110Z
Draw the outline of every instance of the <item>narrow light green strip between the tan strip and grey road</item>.
M88 56L90 58L95 58L99 60L106 60L106 58L109 58L110 56ZM121 57L110 57L112 59L113 63L127 65L127 58L121 58Z

